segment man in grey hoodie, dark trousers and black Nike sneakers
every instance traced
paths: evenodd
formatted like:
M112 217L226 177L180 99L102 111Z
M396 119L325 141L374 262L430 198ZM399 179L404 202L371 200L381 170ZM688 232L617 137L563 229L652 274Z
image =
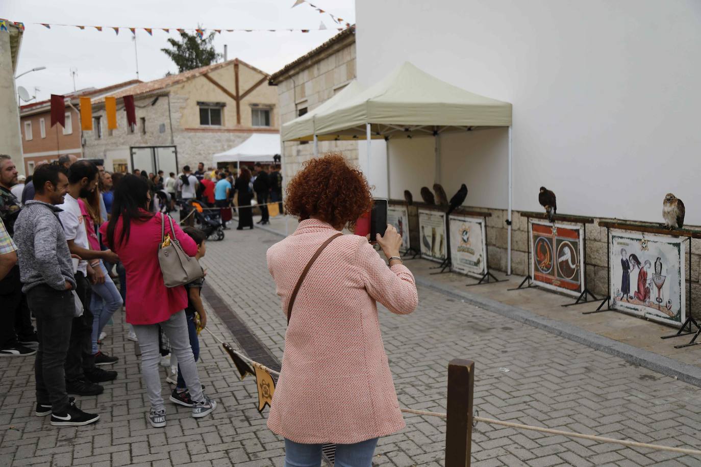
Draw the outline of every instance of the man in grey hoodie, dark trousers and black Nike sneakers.
M51 414L54 426L91 424L100 415L76 407L66 392L64 362L71 339L76 288L71 252L57 213L68 190L66 169L57 162L34 172L34 200L15 222L22 291L36 316L36 415Z

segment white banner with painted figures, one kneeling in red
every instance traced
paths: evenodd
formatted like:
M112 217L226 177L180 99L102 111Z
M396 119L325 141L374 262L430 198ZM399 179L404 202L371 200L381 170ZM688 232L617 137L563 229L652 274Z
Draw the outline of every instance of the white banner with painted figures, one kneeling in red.
M686 321L680 237L611 230L611 308L680 326Z

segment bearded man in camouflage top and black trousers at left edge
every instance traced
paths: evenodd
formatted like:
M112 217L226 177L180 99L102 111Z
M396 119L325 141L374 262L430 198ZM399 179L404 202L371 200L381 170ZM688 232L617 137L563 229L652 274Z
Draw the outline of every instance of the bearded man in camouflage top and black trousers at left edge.
M17 168L9 155L0 155L0 218L10 237L15 237L15 221L22 203L11 188L17 184ZM29 356L36 350L22 344L38 344L29 316L27 297L22 293L20 267L15 265L0 281L0 356Z

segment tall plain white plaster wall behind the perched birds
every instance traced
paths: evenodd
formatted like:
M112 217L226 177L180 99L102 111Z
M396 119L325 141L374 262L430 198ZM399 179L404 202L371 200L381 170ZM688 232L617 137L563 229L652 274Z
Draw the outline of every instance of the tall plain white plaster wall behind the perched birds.
M362 83L408 60L512 102L515 209L540 209L544 185L563 214L661 221L672 192L701 224L697 0L355 3ZM494 207L503 161L477 167L489 193L468 204Z

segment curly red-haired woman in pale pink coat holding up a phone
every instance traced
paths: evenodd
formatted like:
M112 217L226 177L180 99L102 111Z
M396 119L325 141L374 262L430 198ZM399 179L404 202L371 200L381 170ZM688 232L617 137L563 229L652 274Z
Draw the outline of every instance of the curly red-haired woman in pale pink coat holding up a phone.
M285 438L285 466L320 466L334 442L336 466L365 467L380 436L404 427L382 343L376 302L395 314L414 311L414 276L402 265L402 237L392 226L377 236L389 266L358 235L340 235L372 207L367 181L341 155L310 160L287 186L287 211L299 228L268 250L268 269L287 314L308 270L285 334L282 375L268 427Z

